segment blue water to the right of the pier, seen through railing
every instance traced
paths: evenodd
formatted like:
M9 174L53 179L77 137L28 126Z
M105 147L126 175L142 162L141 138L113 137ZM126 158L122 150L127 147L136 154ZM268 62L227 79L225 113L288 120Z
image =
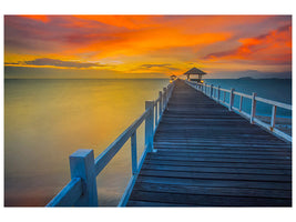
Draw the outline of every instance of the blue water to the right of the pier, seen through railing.
M234 89L237 92L246 94L257 93L257 97L269 99L287 104L292 104L292 79L207 79L206 83L215 87L221 85L223 89ZM221 94L221 99L223 95ZM226 102L229 97L226 93ZM238 108L239 97L234 97L234 107ZM251 99L243 100L243 111L251 112ZM272 114L272 105L263 102L256 104L256 115ZM277 108L277 117L292 118L292 111Z

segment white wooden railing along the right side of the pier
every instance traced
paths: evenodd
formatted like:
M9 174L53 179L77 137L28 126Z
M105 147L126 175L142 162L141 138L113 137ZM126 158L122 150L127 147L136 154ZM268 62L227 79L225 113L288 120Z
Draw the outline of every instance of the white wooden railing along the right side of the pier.
M292 142L292 137L279 129L276 128L275 122L276 122L276 110L277 108L283 108L286 110L292 111L292 105L273 101L273 100L267 100L264 98L257 97L256 92L253 92L253 94L245 94L242 92L236 92L234 89L227 90L227 89L222 89L220 85L214 87L213 84L206 84L206 83L196 83L196 82L191 82L191 81L185 81L188 85L193 87L195 90L198 90L210 97L211 99L217 101L218 103L225 105L228 108L228 110L234 111L242 117L246 118L249 120L252 124L256 123L267 131L274 133L275 135L278 135L289 142ZM234 97L237 95L239 97L239 103L238 107L234 107ZM226 98L228 97L228 102L226 102ZM251 100L251 113L247 113L243 111L243 99L249 99ZM256 102L263 102L273 105L272 109L272 115L271 115L271 123L267 124L256 118Z

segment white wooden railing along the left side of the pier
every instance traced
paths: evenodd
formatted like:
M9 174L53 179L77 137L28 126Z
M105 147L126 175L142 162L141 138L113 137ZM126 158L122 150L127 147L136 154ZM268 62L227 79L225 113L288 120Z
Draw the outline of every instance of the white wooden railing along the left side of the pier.
M98 206L96 176L131 139L132 176L122 195L119 206L126 205L137 174L147 152L153 149L153 137L161 121L174 82L160 91L155 101L145 102L145 112L135 120L114 142L112 142L98 158L93 150L78 150L70 155L71 181L47 204L47 206ZM136 158L136 130L145 121L145 149L140 161Z

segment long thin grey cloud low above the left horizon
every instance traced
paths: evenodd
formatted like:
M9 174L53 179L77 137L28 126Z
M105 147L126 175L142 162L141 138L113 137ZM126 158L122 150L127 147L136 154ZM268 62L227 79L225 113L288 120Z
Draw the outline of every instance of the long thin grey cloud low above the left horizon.
M61 68L93 68L93 67L105 67L100 63L91 63L91 62L76 62L76 61L62 61L59 59L49 59L41 58L31 61L24 61L24 64L32 65L51 65L51 67L61 67Z

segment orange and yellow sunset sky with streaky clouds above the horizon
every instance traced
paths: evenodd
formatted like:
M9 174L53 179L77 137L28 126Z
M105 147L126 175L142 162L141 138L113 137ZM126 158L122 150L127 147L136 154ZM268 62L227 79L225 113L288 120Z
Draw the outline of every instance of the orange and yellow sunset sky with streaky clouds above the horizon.
M290 16L6 16L6 78L290 78Z

